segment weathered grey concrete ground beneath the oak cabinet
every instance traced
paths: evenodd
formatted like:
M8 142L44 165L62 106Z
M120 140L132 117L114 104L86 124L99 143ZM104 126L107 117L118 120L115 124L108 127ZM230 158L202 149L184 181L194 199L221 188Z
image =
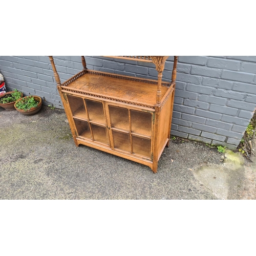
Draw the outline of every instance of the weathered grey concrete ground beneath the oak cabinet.
M255 163L173 138L158 173L76 147L63 110L0 108L0 199L256 199ZM256 159L255 161L256 162Z

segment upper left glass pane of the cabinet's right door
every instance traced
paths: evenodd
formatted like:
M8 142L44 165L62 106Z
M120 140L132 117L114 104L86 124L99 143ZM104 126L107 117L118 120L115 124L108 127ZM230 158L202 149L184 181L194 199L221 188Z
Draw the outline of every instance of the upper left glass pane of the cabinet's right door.
M109 106L111 126L130 131L128 110L117 106Z

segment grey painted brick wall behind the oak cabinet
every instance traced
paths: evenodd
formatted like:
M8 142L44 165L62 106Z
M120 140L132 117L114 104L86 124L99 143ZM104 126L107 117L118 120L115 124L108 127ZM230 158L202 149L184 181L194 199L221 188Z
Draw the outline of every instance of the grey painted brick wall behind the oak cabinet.
M80 56L54 56L61 82L82 70ZM157 79L153 63L87 56L92 70ZM172 77L173 57L163 80ZM62 108L47 56L0 56L7 89ZM236 148L256 107L256 56L179 56L171 134Z

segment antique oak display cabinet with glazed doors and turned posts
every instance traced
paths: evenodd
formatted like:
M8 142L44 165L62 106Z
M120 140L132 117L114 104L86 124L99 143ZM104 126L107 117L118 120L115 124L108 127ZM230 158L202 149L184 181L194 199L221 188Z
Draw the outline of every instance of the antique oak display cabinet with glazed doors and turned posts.
M144 79L87 69L60 83L49 56L75 145L91 146L151 167L169 145L177 56L172 81L162 81L168 56L105 56L153 62L158 79ZM86 158L85 158L86 159Z

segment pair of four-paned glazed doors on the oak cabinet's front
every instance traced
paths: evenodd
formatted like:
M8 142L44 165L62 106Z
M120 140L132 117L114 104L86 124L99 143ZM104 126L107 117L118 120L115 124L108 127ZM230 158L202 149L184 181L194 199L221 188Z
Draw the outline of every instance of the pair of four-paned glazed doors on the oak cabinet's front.
M77 136L138 157L152 154L152 112L67 95ZM106 122L108 117L108 127ZM110 119L110 120L109 120ZM112 142L110 143L110 138Z

